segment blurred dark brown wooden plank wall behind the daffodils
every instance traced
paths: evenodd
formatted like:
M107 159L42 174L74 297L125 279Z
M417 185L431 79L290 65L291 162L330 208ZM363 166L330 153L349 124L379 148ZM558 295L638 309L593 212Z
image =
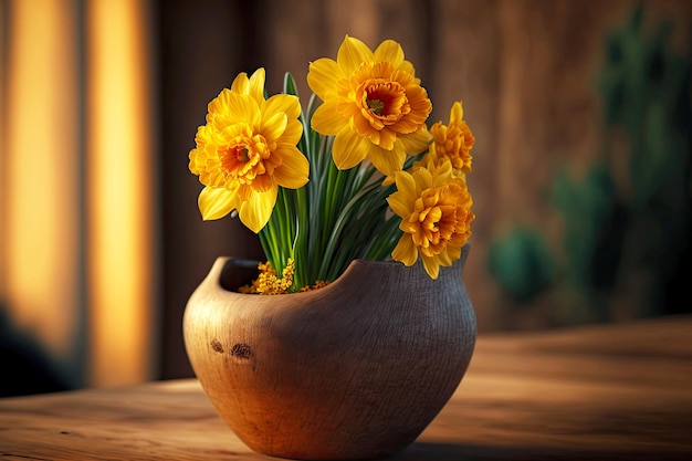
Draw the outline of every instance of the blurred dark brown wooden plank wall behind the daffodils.
M560 222L546 188L557 165L579 171L595 151L594 72L604 33L623 21L630 0L159 0L158 46L164 166L164 318L161 376L189 375L180 323L187 297L220 254L259 255L238 221L202 223L200 185L187 170L207 103L240 71L264 66L268 90L291 72L307 95L307 64L334 57L345 34L371 48L399 41L447 121L455 99L476 144L469 178L478 219L464 280L479 329L542 327L549 305L516 312L485 269L489 242L510 226L538 226L557 239ZM644 2L648 20L672 17L690 51L692 2Z

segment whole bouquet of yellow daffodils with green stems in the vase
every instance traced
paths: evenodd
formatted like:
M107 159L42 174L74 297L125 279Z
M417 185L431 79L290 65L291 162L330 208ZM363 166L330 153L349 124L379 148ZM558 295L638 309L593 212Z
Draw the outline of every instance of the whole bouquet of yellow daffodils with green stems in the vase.
M346 35L336 60L310 64L305 112L291 74L271 97L264 80L223 88L189 155L202 218L230 213L260 238L266 262L245 292L316 289L355 259L420 260L437 279L461 256L474 137L461 102L428 128L432 103L399 43Z

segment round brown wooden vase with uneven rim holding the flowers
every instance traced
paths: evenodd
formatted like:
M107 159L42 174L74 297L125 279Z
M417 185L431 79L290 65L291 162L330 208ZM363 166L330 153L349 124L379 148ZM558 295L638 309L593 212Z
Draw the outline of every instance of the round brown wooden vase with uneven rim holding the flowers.
M392 454L439 413L471 360L468 251L437 280L420 263L356 260L326 287L283 295L235 292L256 265L219 258L185 311L190 364L218 413L256 452Z

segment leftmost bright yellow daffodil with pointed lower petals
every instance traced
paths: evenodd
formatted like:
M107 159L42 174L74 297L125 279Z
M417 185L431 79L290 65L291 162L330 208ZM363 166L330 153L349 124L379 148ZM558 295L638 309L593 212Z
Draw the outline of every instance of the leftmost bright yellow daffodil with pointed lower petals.
M310 165L296 145L303 134L300 101L279 94L264 98L264 69L239 74L208 106L189 169L206 187L199 195L205 220L233 210L254 232L269 221L277 188L307 182Z

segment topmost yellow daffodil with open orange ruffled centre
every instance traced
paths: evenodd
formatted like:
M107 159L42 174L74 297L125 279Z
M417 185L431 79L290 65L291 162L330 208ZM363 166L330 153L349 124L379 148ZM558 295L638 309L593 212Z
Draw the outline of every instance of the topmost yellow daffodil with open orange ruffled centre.
M322 57L310 64L307 83L323 101L312 127L335 136L337 168L353 168L368 158L390 177L401 170L407 154L427 148L432 104L396 41L386 40L371 51L346 35L336 61Z

